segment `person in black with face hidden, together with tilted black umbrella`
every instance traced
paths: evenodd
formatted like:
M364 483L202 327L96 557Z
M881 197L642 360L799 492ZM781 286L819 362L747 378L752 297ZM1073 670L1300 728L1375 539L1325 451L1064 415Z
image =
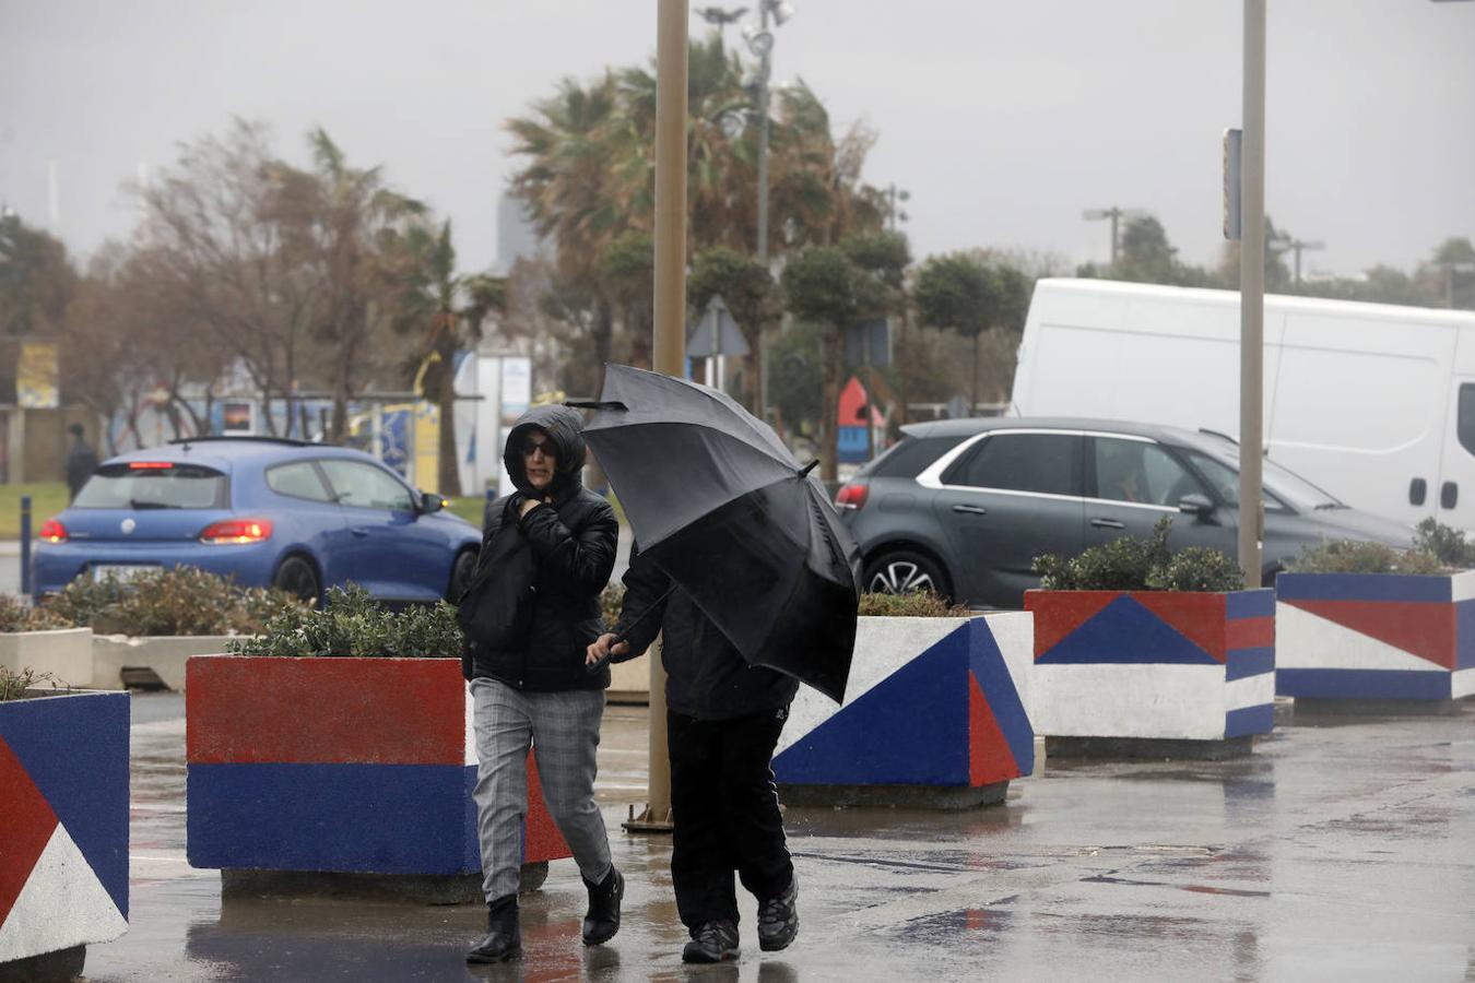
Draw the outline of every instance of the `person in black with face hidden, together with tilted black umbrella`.
M733 878L758 899L758 946L799 928L773 750L804 682L842 702L860 551L825 486L761 420L684 379L608 365L584 426L634 531L625 601L587 662L665 632L671 880L687 962L738 955Z

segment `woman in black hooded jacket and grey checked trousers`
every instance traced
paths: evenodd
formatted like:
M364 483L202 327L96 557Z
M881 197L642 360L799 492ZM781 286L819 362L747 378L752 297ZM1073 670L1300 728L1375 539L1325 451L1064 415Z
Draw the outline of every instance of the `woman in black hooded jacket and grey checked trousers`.
M516 486L487 507L476 573L460 603L462 669L471 681L487 936L471 962L522 952L518 875L531 744L549 812L574 852L589 914L586 945L620 930L624 878L594 805L594 750L609 671L590 675L584 650L599 637L599 595L615 564L620 525L583 486L581 419L537 407L507 435L504 461Z

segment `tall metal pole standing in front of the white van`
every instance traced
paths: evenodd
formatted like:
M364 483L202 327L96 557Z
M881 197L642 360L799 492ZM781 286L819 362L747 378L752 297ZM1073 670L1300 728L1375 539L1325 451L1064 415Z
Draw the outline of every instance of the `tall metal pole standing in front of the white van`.
M1239 243L1239 567L1260 587L1266 315L1266 0L1245 0Z

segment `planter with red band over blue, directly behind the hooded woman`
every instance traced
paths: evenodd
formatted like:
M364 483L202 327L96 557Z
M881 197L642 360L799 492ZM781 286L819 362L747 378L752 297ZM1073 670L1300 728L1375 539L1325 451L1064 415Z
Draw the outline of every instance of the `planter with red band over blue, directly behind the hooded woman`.
M195 656L193 867L473 874L471 696L454 659ZM569 856L528 758L524 864Z

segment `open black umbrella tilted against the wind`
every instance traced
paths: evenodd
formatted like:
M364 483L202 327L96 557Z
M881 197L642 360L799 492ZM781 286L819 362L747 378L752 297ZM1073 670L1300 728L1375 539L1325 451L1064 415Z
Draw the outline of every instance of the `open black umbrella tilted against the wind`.
M575 404L578 405L578 404ZM584 439L640 551L752 665L841 702L860 553L768 424L684 379L608 365Z

